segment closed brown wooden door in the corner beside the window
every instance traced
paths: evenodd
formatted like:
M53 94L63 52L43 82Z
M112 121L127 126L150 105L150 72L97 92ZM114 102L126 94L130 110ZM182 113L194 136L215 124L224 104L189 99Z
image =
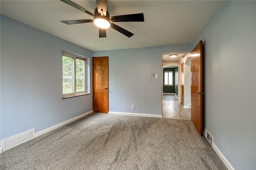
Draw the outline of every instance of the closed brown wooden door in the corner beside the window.
M92 57L93 111L108 113L108 57Z

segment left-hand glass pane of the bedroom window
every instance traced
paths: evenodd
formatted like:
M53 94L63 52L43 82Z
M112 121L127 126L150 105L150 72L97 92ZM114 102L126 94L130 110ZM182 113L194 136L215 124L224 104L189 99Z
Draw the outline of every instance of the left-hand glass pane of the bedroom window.
M62 55L62 93L73 93L72 58Z

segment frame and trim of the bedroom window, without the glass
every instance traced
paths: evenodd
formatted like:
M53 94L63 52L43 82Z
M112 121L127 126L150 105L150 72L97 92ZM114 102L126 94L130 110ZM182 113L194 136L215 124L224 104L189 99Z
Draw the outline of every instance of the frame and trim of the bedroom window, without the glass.
M89 64L89 58L88 57L84 57L82 55L78 55L78 54L74 54L74 53L70 53L70 52L66 52L66 51L62 51L62 55L67 56L67 57L72 57L74 58L74 63L72 62L72 71L73 71L73 75L72 77L74 77L74 93L66 93L63 94L63 83L62 83L62 99L65 98L69 98L69 97L75 97L75 96L81 96L81 95L87 95L90 94L88 91L88 86L89 86L89 80L88 80L88 64ZM84 91L82 92L76 92L76 71L74 70L76 68L76 58L77 59L82 59L85 61L84 63L84 79L86 81L86 83L84 83ZM62 65L63 66L63 65Z

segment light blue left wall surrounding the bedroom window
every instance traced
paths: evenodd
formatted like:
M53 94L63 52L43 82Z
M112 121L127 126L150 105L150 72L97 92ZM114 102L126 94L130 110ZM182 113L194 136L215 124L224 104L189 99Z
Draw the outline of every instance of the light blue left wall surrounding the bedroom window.
M1 140L92 111L91 94L62 99L62 50L91 60L91 51L1 15Z

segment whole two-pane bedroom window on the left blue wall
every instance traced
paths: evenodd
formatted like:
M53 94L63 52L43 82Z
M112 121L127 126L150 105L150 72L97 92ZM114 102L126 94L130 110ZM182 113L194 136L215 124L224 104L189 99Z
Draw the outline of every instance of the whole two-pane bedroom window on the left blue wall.
M62 98L87 93L87 59L62 51Z

